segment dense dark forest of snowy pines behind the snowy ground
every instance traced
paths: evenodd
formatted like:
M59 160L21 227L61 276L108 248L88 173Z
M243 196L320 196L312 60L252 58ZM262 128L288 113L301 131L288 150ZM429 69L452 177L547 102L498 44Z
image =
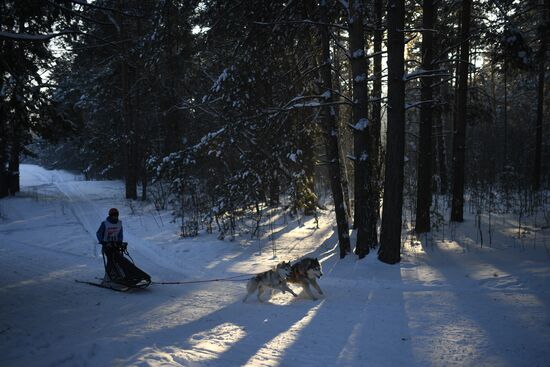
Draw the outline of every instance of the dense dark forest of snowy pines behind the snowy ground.
M34 159L224 237L330 193L340 256L387 263L407 225L550 202L549 0L0 0L0 22L0 197Z

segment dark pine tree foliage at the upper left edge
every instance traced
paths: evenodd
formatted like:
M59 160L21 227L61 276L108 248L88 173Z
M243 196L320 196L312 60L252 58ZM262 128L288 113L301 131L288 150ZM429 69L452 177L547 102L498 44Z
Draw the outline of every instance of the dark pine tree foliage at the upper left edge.
M53 55L52 38L78 33L71 18L63 15L70 1L57 3L0 1L0 197L19 191L21 155L32 155L26 145L46 122L49 101L42 90L47 83L39 70L48 67ZM61 31L54 32L54 29Z

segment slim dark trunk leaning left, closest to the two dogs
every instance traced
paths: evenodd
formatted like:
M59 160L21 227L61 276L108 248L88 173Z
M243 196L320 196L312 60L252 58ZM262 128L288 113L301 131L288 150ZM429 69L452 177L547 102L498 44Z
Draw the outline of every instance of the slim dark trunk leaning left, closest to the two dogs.
M327 4L322 0L319 4L319 15L322 24L328 24ZM338 160L338 130L336 125L335 106L332 104L332 72L329 45L329 31L327 25L320 26L321 33L321 60L320 76L323 88L323 107L322 119L326 130L327 155L329 159L329 176L332 198L334 200L334 210L336 212L336 223L338 227L338 243L340 248L340 258L344 258L351 252L349 241L349 227L344 209L344 197L342 194L342 182L340 176L340 163Z

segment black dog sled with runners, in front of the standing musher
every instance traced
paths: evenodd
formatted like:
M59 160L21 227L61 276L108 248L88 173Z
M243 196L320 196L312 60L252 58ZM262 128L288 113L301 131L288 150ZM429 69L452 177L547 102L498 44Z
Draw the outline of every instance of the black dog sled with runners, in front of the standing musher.
M126 242L107 242L103 244L101 252L105 265L105 276L101 282L76 282L120 292L147 288L151 284L149 274L138 268L128 253Z

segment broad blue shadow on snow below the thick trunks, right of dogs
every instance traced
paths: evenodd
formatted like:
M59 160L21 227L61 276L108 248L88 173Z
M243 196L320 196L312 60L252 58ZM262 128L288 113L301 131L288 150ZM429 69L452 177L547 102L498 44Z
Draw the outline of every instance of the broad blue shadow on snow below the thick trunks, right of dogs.
M336 248L324 253L319 284L325 297L303 301L321 303L296 332L280 365L409 365L414 358L400 267L336 255Z

